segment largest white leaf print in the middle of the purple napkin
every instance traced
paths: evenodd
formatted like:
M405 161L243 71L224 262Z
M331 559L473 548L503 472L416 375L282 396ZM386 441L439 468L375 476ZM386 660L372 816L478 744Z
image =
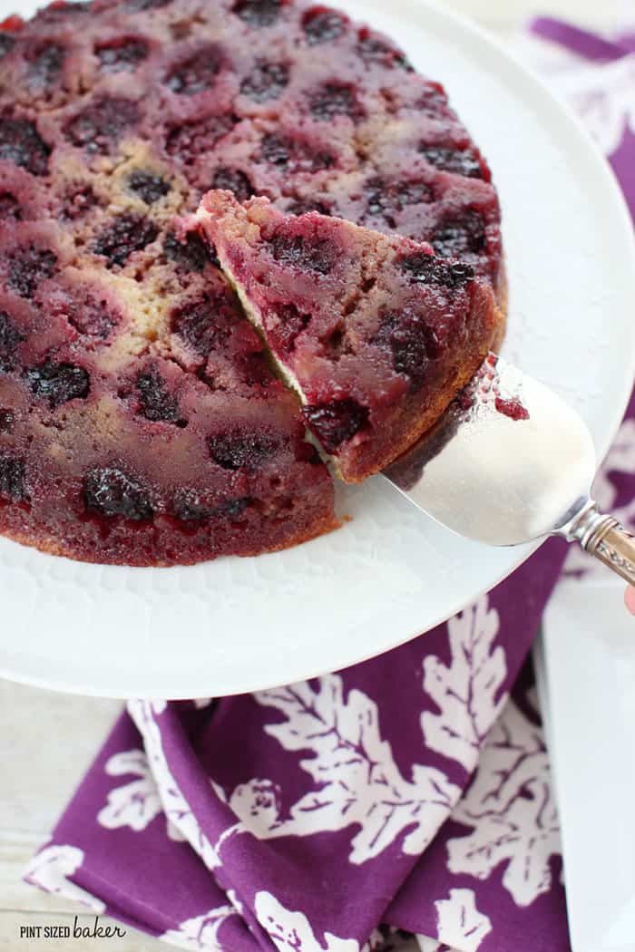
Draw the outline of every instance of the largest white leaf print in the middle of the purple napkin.
M407 831L402 849L418 855L437 832L460 794L446 774L414 764L407 781L395 764L390 744L382 740L377 704L362 691L349 691L339 675L319 680L317 690L306 683L254 695L259 704L287 716L268 724L266 732L287 750L310 750L300 766L314 789L290 808L290 818L277 810L244 823L261 838L307 836L359 826L349 860L365 863ZM264 825L263 825L264 821Z

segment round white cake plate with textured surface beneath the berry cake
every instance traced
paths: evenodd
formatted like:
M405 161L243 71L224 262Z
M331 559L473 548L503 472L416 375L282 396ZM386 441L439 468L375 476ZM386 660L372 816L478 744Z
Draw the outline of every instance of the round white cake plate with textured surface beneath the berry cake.
M0 13L12 0L0 0ZM599 455L635 371L635 248L585 133L485 33L412 0L345 0L446 84L500 189L508 359L585 417ZM0 672L85 694L199 697L337 669L446 619L531 547L451 535L381 478L342 493L338 532L190 568L82 565L0 540Z

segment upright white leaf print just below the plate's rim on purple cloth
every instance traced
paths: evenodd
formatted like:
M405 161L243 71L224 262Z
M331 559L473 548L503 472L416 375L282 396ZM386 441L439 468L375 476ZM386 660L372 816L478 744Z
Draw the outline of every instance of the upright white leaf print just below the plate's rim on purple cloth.
M505 681L505 651L492 647L498 630L498 612L483 595L447 623L449 667L435 655L424 660L424 688L439 707L438 714L424 711L421 717L427 746L468 772L503 706L496 696Z

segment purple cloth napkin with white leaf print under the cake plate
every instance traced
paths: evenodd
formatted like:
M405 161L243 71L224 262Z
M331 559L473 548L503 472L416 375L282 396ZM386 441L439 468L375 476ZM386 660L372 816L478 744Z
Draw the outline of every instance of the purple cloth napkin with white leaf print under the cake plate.
M563 60L553 85L635 213L633 37L545 19L534 30L585 57ZM620 478L627 515L635 483ZM131 702L28 881L192 950L566 952L558 821L523 667L565 554L547 543L446 625L338 674Z

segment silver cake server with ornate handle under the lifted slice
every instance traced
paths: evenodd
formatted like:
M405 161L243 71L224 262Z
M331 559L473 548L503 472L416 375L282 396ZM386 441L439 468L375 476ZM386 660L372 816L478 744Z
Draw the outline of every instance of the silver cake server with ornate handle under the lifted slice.
M384 475L469 539L520 545L562 536L635 584L635 536L591 499L596 468L581 417L490 353L438 424Z

